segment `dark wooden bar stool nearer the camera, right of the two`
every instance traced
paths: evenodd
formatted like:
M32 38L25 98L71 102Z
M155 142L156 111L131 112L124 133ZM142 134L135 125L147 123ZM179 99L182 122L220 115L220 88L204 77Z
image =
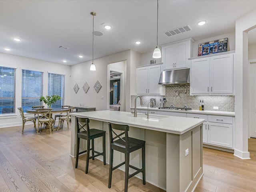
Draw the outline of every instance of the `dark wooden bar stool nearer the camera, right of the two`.
M145 178L145 141L128 137L129 126L122 124L108 123L109 137L110 137L110 161L109 161L109 177L108 188L111 188L112 171L125 164L125 180L124 192L128 190L128 179L142 172L142 182L146 184ZM116 134L114 130L121 130L122 133ZM121 136L124 135L122 138ZM129 164L130 153L138 149L142 149L142 168L136 168ZM124 153L125 161L113 167L113 154L114 150ZM129 167L136 170L133 174L129 175Z

